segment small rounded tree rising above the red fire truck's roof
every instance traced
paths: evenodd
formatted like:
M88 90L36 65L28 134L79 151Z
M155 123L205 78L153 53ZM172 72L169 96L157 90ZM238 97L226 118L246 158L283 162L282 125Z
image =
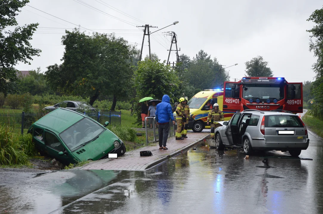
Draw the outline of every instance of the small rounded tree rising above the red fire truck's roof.
M264 61L262 56L252 58L250 61L245 62L246 77L273 77L272 70L267 67L268 62Z

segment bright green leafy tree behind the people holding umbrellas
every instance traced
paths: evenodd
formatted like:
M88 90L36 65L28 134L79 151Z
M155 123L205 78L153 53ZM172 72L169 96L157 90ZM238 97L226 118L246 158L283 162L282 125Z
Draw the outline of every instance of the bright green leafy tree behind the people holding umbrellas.
M172 102L176 102L176 95L180 91L182 82L171 66L161 63L160 60L149 60L138 62L138 69L134 72L137 102L144 97L162 99L167 94ZM137 106L136 115L141 122L140 106Z

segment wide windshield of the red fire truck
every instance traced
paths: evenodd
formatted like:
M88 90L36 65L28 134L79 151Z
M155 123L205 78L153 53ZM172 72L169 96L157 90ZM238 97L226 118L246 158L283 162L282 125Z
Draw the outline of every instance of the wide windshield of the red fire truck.
M273 102L274 99L284 99L284 86L282 85L245 85L242 92L243 98L249 99L270 99Z

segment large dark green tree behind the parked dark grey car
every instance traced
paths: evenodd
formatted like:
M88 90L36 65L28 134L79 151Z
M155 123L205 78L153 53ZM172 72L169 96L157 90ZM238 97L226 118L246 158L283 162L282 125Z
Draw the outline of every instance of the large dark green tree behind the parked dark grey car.
M79 29L66 31L62 37L65 52L61 65L47 67L47 83L55 90L90 98L90 105L101 93L111 95L113 111L117 99L129 96L135 52L123 38L115 34L86 35Z

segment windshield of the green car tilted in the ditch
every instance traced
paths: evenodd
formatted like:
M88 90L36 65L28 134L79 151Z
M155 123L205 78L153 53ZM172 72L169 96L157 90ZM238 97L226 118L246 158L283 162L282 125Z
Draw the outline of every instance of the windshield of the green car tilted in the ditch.
M68 148L73 151L78 146L100 135L104 130L105 128L93 120L84 117L73 126L70 126L63 131L59 136Z

